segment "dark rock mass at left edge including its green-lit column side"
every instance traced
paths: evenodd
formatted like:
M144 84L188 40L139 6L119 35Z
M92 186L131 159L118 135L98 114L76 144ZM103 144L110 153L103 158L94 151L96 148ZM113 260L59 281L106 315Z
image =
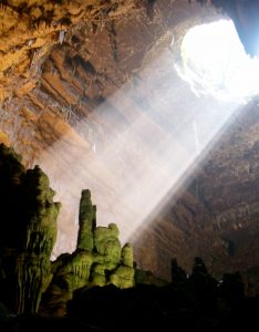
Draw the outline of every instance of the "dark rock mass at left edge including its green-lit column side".
M60 204L46 175L38 166L25 172L19 159L0 145L1 300L14 312L34 313L52 277Z

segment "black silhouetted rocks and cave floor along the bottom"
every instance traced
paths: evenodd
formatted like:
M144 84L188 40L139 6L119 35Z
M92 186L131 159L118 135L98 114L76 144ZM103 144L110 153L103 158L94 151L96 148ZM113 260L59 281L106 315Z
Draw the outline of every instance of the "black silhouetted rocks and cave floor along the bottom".
M196 258L189 278L173 260L173 282L164 287L136 284L121 290L114 284L83 288L68 303L65 317L10 318L0 303L1 331L253 331L259 299L244 297L239 273L215 283ZM196 286L194 288L194 284Z

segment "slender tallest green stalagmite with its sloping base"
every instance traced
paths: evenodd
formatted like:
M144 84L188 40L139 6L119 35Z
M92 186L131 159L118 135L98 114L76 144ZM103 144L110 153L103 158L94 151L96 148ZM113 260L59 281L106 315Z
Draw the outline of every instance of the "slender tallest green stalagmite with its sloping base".
M71 255L61 255L52 263L54 276L43 297L41 305L43 313L65 314L66 302L72 299L73 291L91 283L96 206L92 204L89 189L82 190L81 194L79 226L76 250Z

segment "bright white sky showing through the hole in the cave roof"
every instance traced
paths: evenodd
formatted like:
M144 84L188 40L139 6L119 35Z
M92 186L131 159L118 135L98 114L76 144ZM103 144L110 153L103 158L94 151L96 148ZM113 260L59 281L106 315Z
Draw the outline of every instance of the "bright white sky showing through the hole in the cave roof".
M232 21L190 29L182 43L180 75L198 94L246 103L259 92L259 59L250 58Z

